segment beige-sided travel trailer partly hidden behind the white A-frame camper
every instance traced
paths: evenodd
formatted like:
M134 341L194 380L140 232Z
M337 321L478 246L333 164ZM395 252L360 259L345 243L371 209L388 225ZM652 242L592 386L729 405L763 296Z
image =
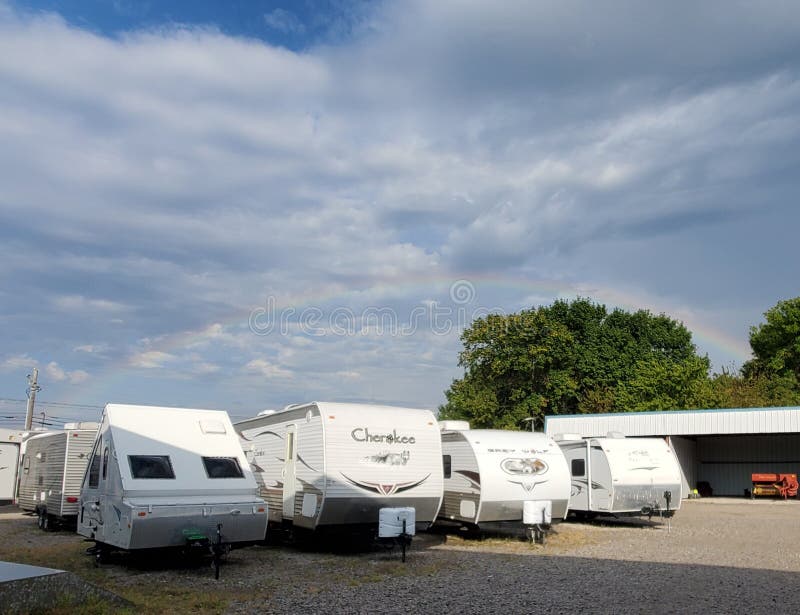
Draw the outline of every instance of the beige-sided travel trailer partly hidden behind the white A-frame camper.
M26 434L17 503L38 516L43 530L74 525L97 427L67 423L62 431Z

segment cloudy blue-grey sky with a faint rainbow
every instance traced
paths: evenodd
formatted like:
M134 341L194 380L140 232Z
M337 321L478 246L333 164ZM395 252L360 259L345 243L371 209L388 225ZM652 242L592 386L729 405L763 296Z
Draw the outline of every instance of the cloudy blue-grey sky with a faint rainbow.
M436 408L488 312L800 295L800 6L0 0L0 426Z

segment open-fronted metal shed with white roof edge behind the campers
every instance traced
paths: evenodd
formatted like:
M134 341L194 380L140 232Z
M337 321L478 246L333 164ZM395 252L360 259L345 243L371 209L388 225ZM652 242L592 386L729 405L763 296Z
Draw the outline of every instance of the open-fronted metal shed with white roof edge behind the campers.
M754 472L800 475L800 407L548 416L544 431L664 437L681 465L683 497L698 482L713 495L742 496Z

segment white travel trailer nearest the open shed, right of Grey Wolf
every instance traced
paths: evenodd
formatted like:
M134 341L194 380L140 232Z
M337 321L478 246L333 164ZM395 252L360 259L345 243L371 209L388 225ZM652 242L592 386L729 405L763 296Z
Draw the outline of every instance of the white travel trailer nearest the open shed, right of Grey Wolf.
M582 439L559 434L572 475L570 510L580 516L662 515L680 508L681 471L661 438Z

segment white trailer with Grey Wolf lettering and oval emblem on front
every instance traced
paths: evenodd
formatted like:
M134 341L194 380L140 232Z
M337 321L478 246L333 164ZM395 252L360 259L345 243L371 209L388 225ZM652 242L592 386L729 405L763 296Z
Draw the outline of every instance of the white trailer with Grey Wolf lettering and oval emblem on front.
M439 519L477 527L522 524L526 501L550 502L553 519L567 516L569 469L552 438L454 423L441 423L444 501Z

